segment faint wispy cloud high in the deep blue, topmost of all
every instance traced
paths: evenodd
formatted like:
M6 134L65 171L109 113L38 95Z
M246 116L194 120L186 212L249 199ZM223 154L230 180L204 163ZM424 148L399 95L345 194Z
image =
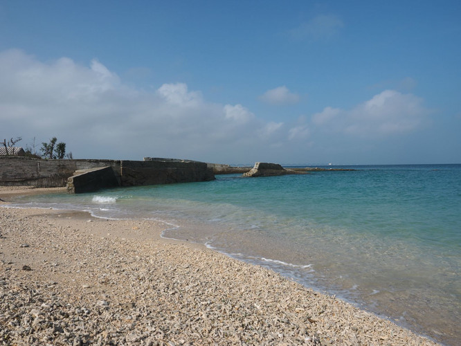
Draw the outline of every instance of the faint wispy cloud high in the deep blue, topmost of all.
M318 41L333 37L343 26L343 21L336 15L318 15L290 30L289 35L296 40Z

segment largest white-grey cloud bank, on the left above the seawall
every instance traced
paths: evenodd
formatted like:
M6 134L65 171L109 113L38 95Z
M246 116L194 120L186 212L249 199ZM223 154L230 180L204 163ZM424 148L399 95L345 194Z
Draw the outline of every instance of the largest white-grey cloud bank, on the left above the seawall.
M140 91L98 60L89 66L67 57L41 62L18 50L0 52L0 123L2 138L22 136L26 145L34 137L41 143L57 136L77 158L224 163L237 156L257 161L252 155L276 132L242 104L206 102L184 83Z

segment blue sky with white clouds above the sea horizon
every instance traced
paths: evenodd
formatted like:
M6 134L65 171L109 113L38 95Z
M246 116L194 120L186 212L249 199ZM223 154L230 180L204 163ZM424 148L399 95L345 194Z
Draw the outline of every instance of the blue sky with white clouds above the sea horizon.
M460 134L458 0L0 0L0 140L37 152L461 163Z

